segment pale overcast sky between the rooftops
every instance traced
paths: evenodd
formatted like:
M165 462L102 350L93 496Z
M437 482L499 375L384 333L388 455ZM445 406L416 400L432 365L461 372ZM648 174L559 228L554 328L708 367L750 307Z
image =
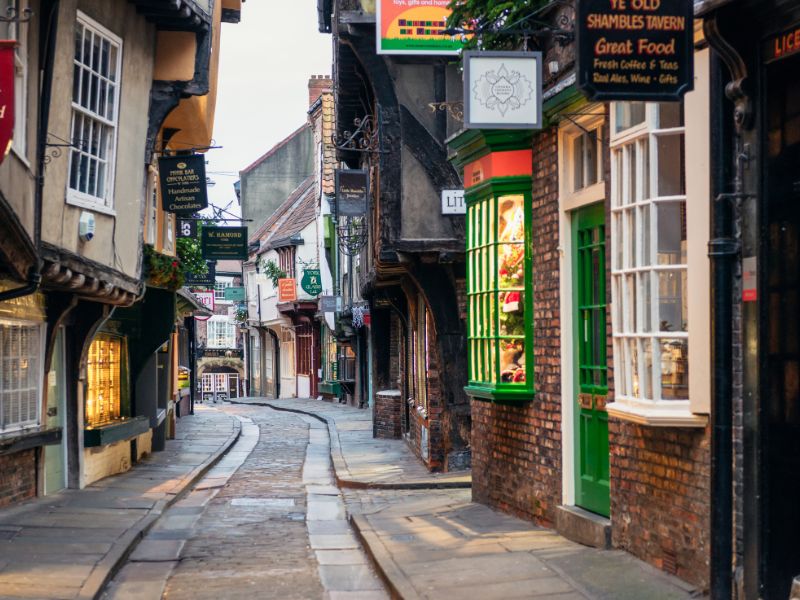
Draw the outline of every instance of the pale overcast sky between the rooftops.
M315 0L246 0L223 23L214 145L206 154L212 204L241 214L238 173L306 122L308 80L330 75L331 36L317 29ZM233 223L231 223L233 225Z

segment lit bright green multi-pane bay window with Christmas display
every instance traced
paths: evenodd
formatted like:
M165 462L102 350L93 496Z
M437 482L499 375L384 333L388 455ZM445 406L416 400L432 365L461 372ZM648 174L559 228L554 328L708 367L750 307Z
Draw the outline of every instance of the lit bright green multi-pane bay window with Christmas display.
M467 190L466 392L495 402L533 400L531 178Z

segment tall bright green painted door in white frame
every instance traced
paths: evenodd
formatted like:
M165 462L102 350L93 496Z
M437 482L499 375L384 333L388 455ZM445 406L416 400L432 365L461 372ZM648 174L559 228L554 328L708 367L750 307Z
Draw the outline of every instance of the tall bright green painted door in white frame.
M606 233L602 203L573 220L576 504L608 516Z

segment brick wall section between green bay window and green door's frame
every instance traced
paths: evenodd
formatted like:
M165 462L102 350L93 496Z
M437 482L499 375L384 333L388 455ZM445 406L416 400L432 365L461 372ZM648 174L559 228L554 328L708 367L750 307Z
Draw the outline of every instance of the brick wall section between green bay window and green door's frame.
M473 498L552 526L561 503L561 344L558 135L533 142L535 400L522 406L472 401Z

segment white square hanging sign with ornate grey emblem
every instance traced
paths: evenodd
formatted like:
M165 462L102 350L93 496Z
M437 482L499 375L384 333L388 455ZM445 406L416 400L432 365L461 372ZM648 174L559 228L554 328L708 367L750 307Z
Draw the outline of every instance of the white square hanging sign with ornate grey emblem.
M464 52L464 127L541 129L541 52Z

